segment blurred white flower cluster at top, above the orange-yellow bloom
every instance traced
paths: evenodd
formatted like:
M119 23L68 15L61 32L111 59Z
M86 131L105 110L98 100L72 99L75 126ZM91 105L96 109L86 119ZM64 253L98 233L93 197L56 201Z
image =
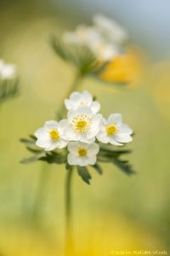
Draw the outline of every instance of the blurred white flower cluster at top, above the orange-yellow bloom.
M94 15L92 26L79 25L74 32L65 32L64 41L87 47L99 61L111 61L122 51L127 32L115 20Z

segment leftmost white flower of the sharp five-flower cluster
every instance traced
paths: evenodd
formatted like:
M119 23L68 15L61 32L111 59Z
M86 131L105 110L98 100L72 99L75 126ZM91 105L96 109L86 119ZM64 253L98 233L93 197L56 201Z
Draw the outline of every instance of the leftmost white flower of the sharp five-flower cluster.
M54 148L65 148L68 143L64 136L66 124L66 119L60 120L59 123L54 120L47 121L42 128L35 132L37 146L47 151L54 150Z

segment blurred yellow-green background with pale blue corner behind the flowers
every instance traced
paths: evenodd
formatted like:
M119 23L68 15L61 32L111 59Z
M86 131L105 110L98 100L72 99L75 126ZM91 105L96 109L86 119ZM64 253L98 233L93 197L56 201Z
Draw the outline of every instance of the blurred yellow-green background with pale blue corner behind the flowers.
M74 67L51 49L50 35L90 23L96 13L125 26L143 55L143 76L135 86L94 79L80 86L97 96L103 114L122 113L133 127L127 148L133 148L128 158L137 174L126 177L105 165L102 177L91 170L88 186L75 173L77 250L105 256L115 249L170 249L169 9L166 0L0 0L0 58L16 63L20 73L20 96L0 106L0 255L63 255L65 169L21 165L29 153L19 138L54 118L74 79Z

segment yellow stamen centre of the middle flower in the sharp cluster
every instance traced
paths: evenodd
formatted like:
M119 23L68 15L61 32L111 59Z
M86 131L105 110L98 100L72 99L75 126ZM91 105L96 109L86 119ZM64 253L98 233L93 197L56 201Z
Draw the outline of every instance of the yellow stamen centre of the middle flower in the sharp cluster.
M92 119L85 114L78 114L71 120L71 125L74 131L86 132L92 125Z

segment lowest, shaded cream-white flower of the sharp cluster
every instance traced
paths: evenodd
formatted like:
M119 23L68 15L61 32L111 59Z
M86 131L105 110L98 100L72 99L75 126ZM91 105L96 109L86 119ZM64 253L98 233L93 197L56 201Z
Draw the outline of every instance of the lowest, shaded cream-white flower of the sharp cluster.
M87 144L71 142L68 144L68 163L71 166L95 165L96 154L99 152L99 145L96 143Z

